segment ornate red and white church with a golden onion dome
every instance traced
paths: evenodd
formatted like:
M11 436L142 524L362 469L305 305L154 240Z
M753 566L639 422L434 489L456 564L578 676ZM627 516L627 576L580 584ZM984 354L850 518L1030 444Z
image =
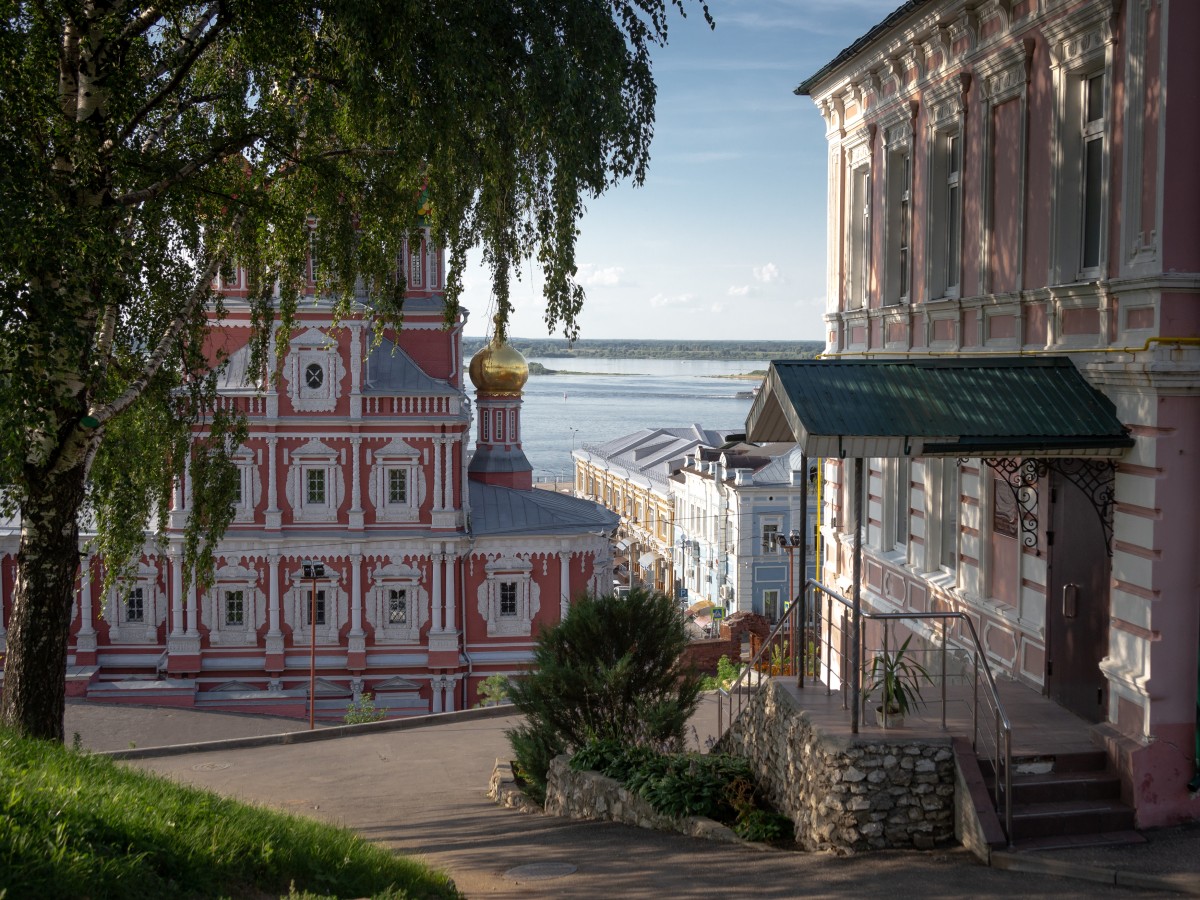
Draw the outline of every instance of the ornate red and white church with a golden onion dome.
M366 318L335 328L310 283L274 384L250 371L244 276L222 278L210 352L229 358L218 402L246 415L248 438L216 578L203 592L184 580L185 476L166 553L148 542L132 581L103 590L104 560L85 553L68 696L306 716L314 628L317 719L340 721L364 692L389 718L462 709L482 679L530 662L572 598L611 587L617 517L533 487L524 359L493 340L464 371L467 317L444 326L442 254L422 241L404 264L403 329L378 342ZM18 540L0 526L0 650ZM306 560L323 577L306 578Z

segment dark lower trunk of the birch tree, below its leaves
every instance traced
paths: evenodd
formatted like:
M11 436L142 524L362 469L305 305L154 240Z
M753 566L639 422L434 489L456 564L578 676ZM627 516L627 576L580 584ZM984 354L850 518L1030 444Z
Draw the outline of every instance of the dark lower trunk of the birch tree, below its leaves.
M20 734L62 740L67 638L79 571L85 464L55 473L22 505L17 584L8 623L0 720Z

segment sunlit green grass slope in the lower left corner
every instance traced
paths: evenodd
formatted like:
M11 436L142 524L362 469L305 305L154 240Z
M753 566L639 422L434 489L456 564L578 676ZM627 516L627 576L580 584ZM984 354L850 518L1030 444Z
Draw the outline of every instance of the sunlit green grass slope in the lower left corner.
M0 900L457 898L352 832L0 730Z

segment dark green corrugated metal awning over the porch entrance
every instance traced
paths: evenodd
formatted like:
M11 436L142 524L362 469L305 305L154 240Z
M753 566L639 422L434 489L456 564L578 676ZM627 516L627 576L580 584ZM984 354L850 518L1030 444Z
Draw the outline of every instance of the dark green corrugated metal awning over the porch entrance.
M1088 456L1133 446L1066 356L776 360L746 438L810 457Z

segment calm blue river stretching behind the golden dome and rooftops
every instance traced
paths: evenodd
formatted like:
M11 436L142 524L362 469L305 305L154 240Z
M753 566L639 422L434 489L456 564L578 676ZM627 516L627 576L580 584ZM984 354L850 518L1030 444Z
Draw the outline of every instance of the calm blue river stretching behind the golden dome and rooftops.
M540 359L570 374L529 376L521 412L535 479L572 478L571 450L640 428L701 425L743 431L766 360Z

